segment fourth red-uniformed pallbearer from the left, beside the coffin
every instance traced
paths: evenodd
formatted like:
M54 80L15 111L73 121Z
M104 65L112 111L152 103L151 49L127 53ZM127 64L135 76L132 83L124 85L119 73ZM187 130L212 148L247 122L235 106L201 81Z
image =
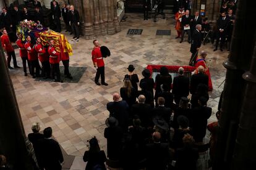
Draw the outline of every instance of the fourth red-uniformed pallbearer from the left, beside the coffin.
M42 64L41 76L43 76L45 79L50 78L51 68L49 65L49 54L47 52L47 49L42 46L41 39L39 37L36 38L35 51L38 53L38 59Z

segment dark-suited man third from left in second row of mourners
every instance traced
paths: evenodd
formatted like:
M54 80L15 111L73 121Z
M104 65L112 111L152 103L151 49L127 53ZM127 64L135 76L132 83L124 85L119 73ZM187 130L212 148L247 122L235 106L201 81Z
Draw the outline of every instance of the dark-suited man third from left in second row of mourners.
M158 118L163 118L166 123L170 123L170 118L171 118L171 108L164 107L164 98L163 97L158 97L158 107L153 108L153 114L152 117L158 117Z

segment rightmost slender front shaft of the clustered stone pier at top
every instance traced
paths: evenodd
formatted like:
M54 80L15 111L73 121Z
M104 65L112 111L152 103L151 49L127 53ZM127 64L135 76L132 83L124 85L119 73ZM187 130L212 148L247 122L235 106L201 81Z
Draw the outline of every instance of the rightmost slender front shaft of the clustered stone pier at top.
M107 33L112 35L116 31L114 30L114 0L108 0L108 29Z

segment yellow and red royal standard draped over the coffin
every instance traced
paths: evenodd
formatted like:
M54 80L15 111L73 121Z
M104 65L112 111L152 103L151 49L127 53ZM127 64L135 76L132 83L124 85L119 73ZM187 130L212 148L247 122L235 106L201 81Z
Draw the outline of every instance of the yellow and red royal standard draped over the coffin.
M43 46L47 46L49 41L53 39L55 41L56 51L61 53L61 58L64 55L73 55L72 47L64 34L57 33L53 30L48 30L40 33L40 38Z

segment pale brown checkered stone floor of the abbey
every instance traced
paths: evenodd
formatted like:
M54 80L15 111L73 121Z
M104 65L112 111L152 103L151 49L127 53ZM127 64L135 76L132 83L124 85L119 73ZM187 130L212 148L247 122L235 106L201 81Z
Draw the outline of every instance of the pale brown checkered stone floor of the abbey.
M82 38L79 42L72 43L74 55L70 57L70 67L80 69L74 71L80 74L76 83L40 81L23 76L22 69L10 70L25 131L30 133L30 127L35 122L41 123L42 129L51 126L54 138L67 155L75 156L74 162L70 163L70 169L85 168L81 156L88 150L87 140L91 137L96 136L100 140L100 147L106 150L103 136L105 119L109 115L106 103L112 100L111 95L114 92L119 92L129 64L135 66L135 72L142 78L141 71L148 64L189 63L190 44L186 41L180 44L179 39L175 39L173 15L167 14L165 20L158 18L156 23L152 19L143 21L142 14L126 16L126 21L121 22L120 33L97 38L100 44L111 50L111 57L105 59L106 82L109 86L95 85L93 79L96 71L91 60L92 40ZM143 29L143 32L141 35L127 35L129 28ZM156 30L171 30L171 36L156 36ZM72 39L69 34L67 38ZM215 119L220 92L223 89L223 85L220 88L218 86L223 82L226 73L222 63L227 59L227 52L213 52L211 44L202 46L202 49L208 52L207 62L210 63L213 81L213 92L210 92L208 103L213 107L210 122ZM19 56L18 50L15 52ZM22 66L21 59L17 58Z

